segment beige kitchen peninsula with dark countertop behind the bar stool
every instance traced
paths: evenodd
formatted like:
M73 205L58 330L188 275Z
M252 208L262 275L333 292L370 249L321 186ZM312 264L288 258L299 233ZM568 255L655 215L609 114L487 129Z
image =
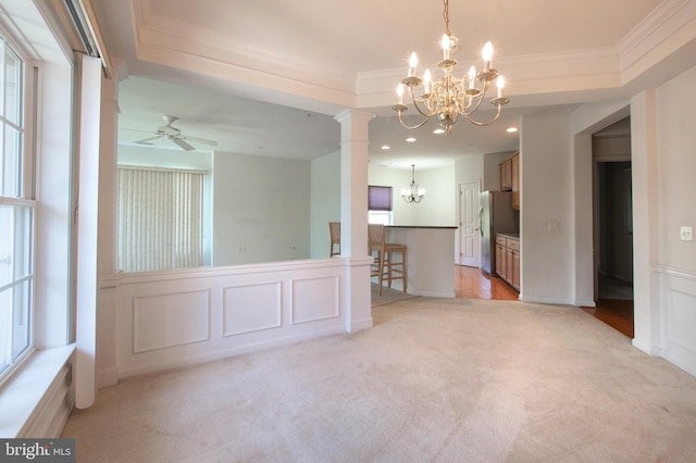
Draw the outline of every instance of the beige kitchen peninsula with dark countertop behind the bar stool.
M455 297L457 227L390 225L385 229L388 242L407 247L409 295ZM395 281L393 287L401 289L401 281Z

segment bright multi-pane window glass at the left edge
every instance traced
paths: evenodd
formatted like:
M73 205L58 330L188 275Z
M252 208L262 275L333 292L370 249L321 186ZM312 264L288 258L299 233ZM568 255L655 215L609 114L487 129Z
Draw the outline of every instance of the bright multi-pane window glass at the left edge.
M33 347L33 185L24 151L24 62L0 37L0 379Z

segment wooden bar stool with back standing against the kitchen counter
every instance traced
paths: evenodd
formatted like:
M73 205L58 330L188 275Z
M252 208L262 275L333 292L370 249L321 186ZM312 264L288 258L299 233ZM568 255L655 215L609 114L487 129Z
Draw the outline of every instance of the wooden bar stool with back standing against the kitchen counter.
M406 262L406 245L397 245L386 242L384 225L369 224L368 237L370 246L370 255L376 252L375 262L370 273L371 277L377 277L377 293L382 296L382 284L387 281L391 287L391 281L400 279L403 281L403 292L407 290L407 262ZM400 253L401 260L394 261L394 253Z

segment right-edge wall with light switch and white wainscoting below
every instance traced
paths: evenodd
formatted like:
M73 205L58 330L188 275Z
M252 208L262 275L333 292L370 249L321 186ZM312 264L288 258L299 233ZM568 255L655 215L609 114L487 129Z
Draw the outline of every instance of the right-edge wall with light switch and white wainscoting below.
M659 348L660 354L696 375L696 241L682 241L680 227L696 227L696 67L684 72L655 91L657 166L657 262L651 261L648 278L659 281L659 330L651 306L641 323L651 323L651 336L636 324L636 345ZM649 114L649 107L648 114ZM650 120L649 117L647 118ZM632 127L633 129L633 127ZM648 150L650 147L648 147ZM636 247L635 252L645 252ZM650 300L654 303L654 299ZM639 328L639 331L638 331ZM641 335L641 337L638 336ZM658 342L659 341L659 342Z

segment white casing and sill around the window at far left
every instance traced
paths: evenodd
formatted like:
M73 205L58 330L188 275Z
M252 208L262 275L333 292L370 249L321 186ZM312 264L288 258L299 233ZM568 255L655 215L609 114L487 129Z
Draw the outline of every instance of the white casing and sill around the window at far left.
M75 284L74 136L76 54L57 26L47 2L0 0L0 29L15 52L26 58L24 148L30 153L24 176L32 185L34 218L33 350L0 386L0 435L59 436L74 397L70 375L75 356L72 288ZM57 33L57 34L54 34ZM40 50L40 53L39 53ZM99 95L97 95L99 98ZM73 391L60 399L62 387ZM58 395L58 396L54 396ZM58 397L61 410L46 409ZM49 416L55 412L55 415ZM48 413L48 415L46 414ZM59 416L60 415L60 416ZM59 421L53 421L59 418Z

